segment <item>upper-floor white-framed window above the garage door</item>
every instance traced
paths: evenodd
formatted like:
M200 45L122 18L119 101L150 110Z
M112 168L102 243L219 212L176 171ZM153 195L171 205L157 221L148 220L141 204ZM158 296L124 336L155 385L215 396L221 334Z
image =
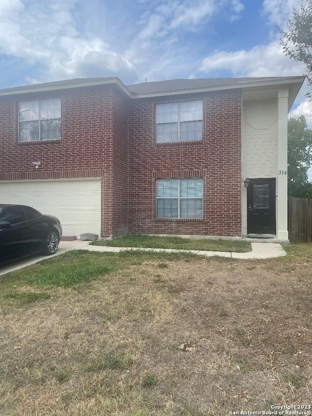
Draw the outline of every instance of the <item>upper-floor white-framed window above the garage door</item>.
M20 101L19 141L60 139L60 98Z

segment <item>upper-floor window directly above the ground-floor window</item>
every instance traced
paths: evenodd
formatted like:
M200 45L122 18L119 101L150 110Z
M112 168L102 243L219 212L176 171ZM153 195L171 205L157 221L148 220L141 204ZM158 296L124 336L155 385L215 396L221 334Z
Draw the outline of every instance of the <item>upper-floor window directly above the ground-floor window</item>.
M156 104L156 142L203 139L203 102Z

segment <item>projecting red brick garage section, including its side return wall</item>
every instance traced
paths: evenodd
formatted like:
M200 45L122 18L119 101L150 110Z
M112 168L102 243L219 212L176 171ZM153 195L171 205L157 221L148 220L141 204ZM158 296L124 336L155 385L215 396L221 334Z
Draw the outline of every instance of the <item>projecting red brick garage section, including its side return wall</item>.
M18 143L19 101L50 97L61 99L61 139ZM0 98L0 180L101 177L102 236L126 230L126 153L127 104L114 86Z

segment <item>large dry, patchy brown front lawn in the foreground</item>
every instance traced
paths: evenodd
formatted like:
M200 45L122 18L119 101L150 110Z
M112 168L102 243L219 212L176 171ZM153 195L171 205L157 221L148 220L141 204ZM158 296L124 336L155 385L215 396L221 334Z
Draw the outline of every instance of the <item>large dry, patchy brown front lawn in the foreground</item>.
M3 416L311 404L312 244L276 259L76 250L0 278Z

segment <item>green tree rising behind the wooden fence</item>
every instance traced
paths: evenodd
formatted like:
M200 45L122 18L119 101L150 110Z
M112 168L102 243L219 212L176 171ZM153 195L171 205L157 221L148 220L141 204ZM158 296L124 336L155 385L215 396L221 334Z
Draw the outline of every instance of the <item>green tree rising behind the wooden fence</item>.
M311 198L312 183L307 171L312 164L312 130L304 116L288 120L288 194ZM307 195L307 196L306 196Z

